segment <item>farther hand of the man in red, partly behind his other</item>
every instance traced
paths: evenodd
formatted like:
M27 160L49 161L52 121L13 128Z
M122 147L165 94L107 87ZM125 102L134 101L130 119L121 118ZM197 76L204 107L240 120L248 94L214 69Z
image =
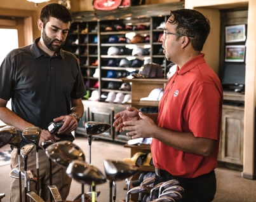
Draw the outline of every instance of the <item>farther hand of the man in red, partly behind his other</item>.
M140 119L140 116L138 116L138 109L135 107L126 107L125 111L118 112L116 116L114 116L113 126L116 127L116 131L119 131L120 133L123 132L123 122L124 121L137 121Z

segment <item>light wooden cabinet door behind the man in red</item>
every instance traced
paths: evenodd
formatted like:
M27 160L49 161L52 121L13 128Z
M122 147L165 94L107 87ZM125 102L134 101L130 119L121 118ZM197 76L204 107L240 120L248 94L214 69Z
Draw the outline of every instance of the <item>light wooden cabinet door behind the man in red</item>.
M220 137L220 161L243 165L243 118L242 107L222 111L222 133Z

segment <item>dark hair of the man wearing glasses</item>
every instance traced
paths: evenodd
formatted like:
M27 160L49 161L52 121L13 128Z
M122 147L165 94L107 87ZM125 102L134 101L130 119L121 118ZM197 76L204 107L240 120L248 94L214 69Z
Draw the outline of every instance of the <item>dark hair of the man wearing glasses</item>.
M196 51L203 50L203 45L210 33L210 21L202 13L196 10L180 9L171 11L170 24L177 24L177 34L184 34L191 40L192 48ZM179 39L180 36L177 36Z

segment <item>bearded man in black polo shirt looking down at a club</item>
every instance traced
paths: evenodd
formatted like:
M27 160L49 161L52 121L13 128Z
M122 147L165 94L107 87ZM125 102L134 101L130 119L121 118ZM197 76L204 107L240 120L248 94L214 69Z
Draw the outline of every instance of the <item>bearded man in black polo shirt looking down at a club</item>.
M30 126L43 129L43 141L74 140L71 131L83 116L81 97L86 95L83 77L77 58L62 50L73 22L65 6L52 3L44 6L37 22L41 37L33 44L11 51L0 66L0 119L19 131ZM12 111L6 108L11 98ZM48 132L51 121L64 121L57 135ZM21 135L22 136L22 135ZM29 144L22 138L22 146ZM27 161L27 167L36 170L36 155ZM23 166L23 163L22 163ZM49 201L48 158L39 151L39 178L41 197ZM18 168L17 149L11 153L11 168ZM53 184L57 185L62 199L67 198L71 178L65 168L53 164ZM35 191L35 184L31 184ZM24 194L23 199L24 201ZM20 201L18 179L11 178L10 201Z

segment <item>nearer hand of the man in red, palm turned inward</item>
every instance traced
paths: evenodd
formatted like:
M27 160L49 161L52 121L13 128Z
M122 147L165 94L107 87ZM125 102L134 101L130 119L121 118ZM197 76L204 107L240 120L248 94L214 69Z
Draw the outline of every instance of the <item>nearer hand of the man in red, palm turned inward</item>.
M131 136L131 138L149 138L154 137L158 134L158 126L154 123L154 121L145 116L142 112L138 112L140 116L140 120L138 121L125 121L123 122L122 130L129 131L126 133L127 136Z

